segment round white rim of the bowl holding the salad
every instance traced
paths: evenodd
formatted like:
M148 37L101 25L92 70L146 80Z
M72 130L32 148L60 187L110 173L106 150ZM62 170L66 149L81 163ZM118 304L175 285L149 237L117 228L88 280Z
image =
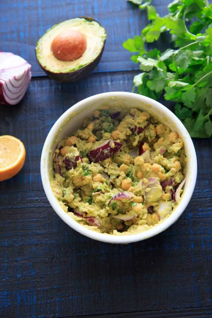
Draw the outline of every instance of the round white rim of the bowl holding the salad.
M55 135L57 135L59 129L64 124L65 120L71 116L72 113L76 113L78 108L82 107L88 102L95 102L102 98L111 98L111 97L128 97L128 98L136 98L137 100L140 100L143 103L151 104L154 108L159 108L159 110L166 114L167 117L171 119L171 121L175 122L178 131L180 134L184 136L183 142L187 143L189 145L189 151L191 153L192 158L192 173L190 175L190 187L186 190L186 195L184 195L179 203L179 205L176 207L175 211L166 218L163 222L158 224L157 226L154 226L153 228L143 231L136 234L126 234L126 235L110 235L106 233L99 233L94 230L90 230L89 228L79 224L77 221L75 221L73 218L71 218L65 211L63 211L62 207L60 206L58 200L56 197L54 197L51 186L50 186L50 180L49 180L49 171L48 171L48 154L46 150L51 147L53 140L55 139ZM83 112L83 110L82 110ZM53 210L59 215L59 217L71 228L76 230L77 232L91 238L95 239L97 241L102 241L106 243L114 243L114 244L128 244L131 242L138 242L141 240L145 240L148 238L151 238L152 236L155 236L159 234L160 232L165 231L169 226L171 226L174 222L177 221L177 219L180 217L180 215L183 213L183 211L186 209L192 195L194 192L194 187L196 183L196 177L197 177L197 158L196 158L196 152L194 149L194 144L192 142L192 139L190 135L188 134L186 128L182 124L182 122L164 105L159 103L156 100L152 100L149 97L146 97L144 95L139 95L136 93L129 93L129 92L107 92L107 93L100 93L93 96L90 96L84 100L79 101L78 103L74 104L72 107L67 109L66 112L64 112L59 119L54 123L53 127L49 131L46 141L43 146L42 154L41 154L41 161L40 161L40 171L41 171L41 180L43 184L44 191L46 193L46 197L51 204Z

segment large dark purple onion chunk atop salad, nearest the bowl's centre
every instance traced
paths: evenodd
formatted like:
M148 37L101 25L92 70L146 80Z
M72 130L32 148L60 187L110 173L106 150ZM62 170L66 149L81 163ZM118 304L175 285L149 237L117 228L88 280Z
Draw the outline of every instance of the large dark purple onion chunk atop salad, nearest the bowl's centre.
M101 145L91 150L88 153L88 158L90 162L102 162L105 159L108 159L115 155L117 151L119 151L122 147L122 143L113 141L113 140L105 140Z

